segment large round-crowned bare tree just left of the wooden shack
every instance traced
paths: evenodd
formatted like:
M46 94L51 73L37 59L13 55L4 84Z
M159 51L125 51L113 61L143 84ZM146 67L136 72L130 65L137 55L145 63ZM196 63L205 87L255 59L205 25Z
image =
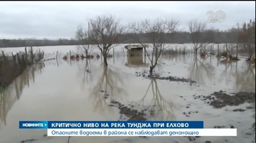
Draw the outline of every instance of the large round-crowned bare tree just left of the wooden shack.
M114 15L98 15L89 20L90 41L100 49L107 66L107 55L109 50L118 45L121 35L125 31L125 26L116 20Z

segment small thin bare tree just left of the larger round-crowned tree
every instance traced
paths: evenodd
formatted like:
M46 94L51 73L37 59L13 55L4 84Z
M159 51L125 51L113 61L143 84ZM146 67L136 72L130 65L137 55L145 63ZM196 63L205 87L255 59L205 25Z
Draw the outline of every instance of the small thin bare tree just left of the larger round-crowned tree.
M87 57L89 52L88 31L84 30L82 25L77 27L76 38L79 42L79 48L85 51Z

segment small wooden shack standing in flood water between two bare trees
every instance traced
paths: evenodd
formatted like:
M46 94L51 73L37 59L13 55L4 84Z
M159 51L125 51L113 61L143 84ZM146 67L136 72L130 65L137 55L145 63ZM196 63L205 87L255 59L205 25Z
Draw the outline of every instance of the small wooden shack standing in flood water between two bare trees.
M127 49L128 56L141 56L143 55L143 49L147 47L147 45L127 45L125 49Z

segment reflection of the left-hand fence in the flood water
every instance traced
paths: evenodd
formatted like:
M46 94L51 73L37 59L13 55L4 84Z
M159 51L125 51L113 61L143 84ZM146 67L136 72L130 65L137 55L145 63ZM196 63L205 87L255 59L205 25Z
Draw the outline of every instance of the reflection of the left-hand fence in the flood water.
M30 80L35 82L35 74L41 74L44 67L44 63L38 63L28 67L11 85L0 93L0 127L2 124L7 125L6 117L8 111L10 111L14 103L19 100L23 88L25 88L25 86L29 87Z

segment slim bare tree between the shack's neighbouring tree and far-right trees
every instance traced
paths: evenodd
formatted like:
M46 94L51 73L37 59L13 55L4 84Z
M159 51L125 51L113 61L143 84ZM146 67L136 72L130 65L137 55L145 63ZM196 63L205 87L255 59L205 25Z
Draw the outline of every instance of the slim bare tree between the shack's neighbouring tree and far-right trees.
M189 32L191 35L191 41L194 44L195 56L197 55L197 50L207 46L209 43L203 38L203 33L206 30L206 23L200 23L197 20L189 21Z

